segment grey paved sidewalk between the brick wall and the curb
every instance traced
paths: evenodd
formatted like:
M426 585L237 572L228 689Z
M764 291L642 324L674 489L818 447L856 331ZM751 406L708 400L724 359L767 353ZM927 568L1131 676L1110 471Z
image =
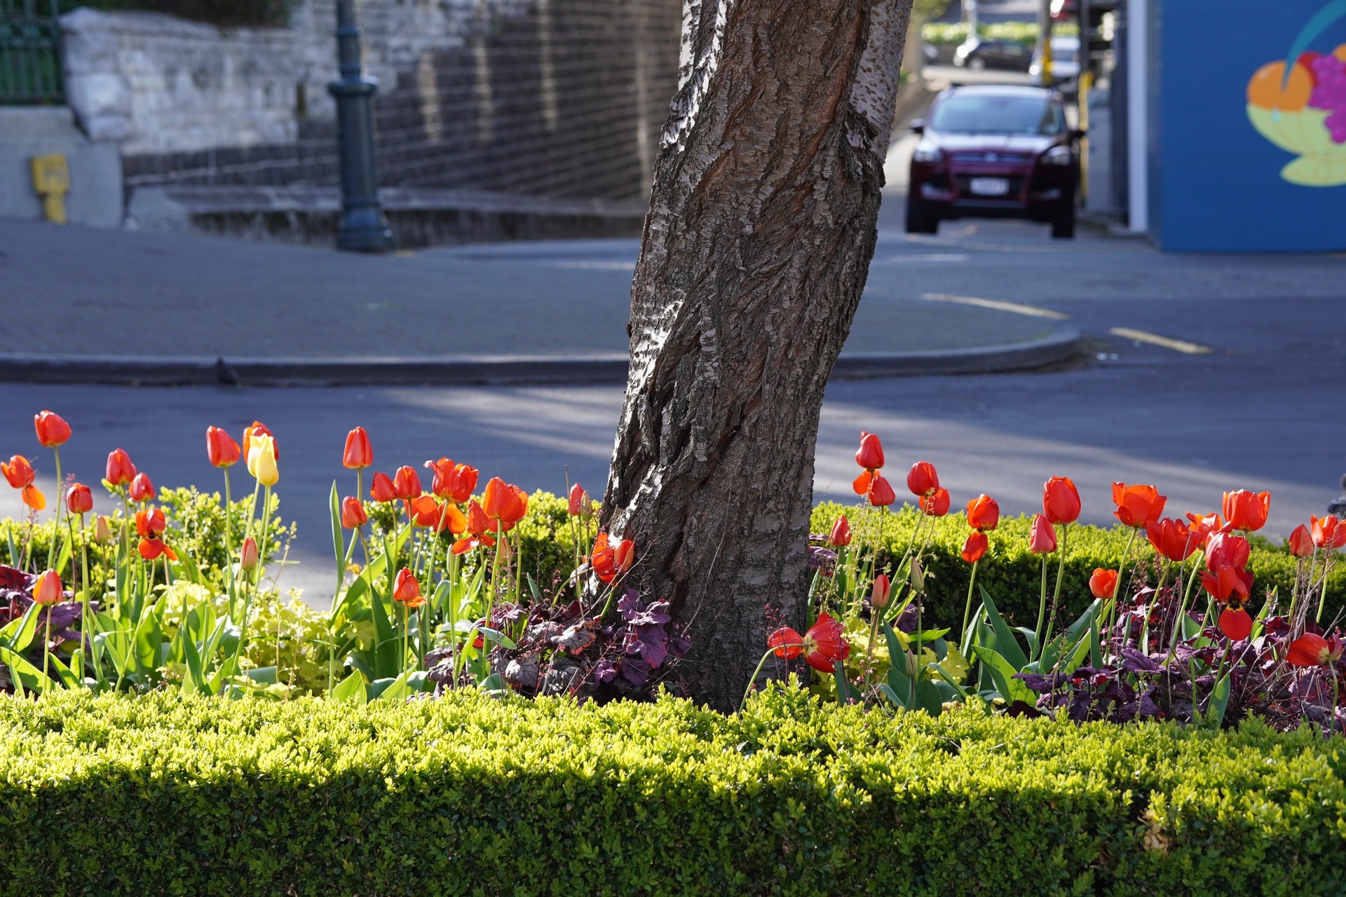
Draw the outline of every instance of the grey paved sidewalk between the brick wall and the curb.
M592 239L378 257L0 219L0 355L11 360L7 379L24 379L23 368L35 371L38 362L50 368L92 356L197 364L217 356L232 364L281 359L281 367L308 360L326 371L314 379L328 382L341 381L331 377L334 363L371 367L374 359L421 371L464 358L621 368L638 250L635 239ZM1061 325L1049 317L931 301L903 288L909 274L949 260L900 237L882 238L843 358L855 364L915 352L919 366L933 352L972 359L968 370L991 358L981 368L1003 370L1004 359L987 356L985 347L1022 348L1054 335L1062 343ZM455 370L462 377L466 368ZM883 371L855 368L865 373ZM595 378L576 378L586 379Z

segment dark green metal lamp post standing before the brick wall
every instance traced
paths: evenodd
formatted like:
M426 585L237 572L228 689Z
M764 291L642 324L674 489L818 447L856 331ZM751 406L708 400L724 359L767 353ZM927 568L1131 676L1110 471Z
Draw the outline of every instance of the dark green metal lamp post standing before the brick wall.
M336 249L386 253L393 247L378 204L374 172L373 95L378 81L359 73L359 28L354 0L336 0L336 62L341 79L327 85L336 100L336 144L341 152L341 226Z

